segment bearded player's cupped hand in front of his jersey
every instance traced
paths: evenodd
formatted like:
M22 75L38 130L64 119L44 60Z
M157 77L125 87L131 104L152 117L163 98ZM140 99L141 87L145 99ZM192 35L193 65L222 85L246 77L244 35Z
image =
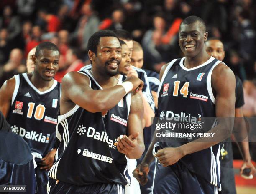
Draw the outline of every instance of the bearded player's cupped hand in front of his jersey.
M118 137L118 142L117 142L118 152L126 155L129 152L133 151L133 149L137 145L138 135L139 135L138 132L131 134L129 137L127 135L120 135L120 137Z

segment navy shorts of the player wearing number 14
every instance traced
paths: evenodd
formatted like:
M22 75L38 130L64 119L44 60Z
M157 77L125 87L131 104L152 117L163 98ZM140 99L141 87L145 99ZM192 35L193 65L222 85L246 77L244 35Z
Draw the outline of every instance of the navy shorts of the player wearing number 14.
M218 188L189 171L182 162L163 167L156 160L153 194L218 194Z

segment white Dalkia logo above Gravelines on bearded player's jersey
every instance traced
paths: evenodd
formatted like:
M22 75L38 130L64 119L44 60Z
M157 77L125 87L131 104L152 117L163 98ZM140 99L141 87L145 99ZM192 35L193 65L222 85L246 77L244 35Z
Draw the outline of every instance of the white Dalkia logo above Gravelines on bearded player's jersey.
M93 127L88 127L88 129L86 130L86 127L84 127L84 125L79 125L79 127L77 128L77 133L79 135L86 135L87 137L96 139L98 141L101 142L107 142L108 146L115 149L116 148L116 144L118 142L118 139L115 138L115 142L112 139L108 139L108 135L105 131L97 132Z

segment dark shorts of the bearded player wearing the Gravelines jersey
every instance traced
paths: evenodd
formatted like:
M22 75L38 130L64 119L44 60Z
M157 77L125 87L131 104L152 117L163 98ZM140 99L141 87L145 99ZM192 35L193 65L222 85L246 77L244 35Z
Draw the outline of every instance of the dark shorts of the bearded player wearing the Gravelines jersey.
M116 183L95 183L90 185L74 185L50 178L48 194L124 194L124 186Z

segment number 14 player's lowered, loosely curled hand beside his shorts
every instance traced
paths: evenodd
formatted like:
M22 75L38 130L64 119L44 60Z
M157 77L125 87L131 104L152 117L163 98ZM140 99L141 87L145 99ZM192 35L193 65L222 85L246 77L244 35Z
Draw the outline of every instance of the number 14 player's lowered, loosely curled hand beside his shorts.
M148 172L149 165L147 163L141 163L133 170L133 177L143 186L148 182Z

